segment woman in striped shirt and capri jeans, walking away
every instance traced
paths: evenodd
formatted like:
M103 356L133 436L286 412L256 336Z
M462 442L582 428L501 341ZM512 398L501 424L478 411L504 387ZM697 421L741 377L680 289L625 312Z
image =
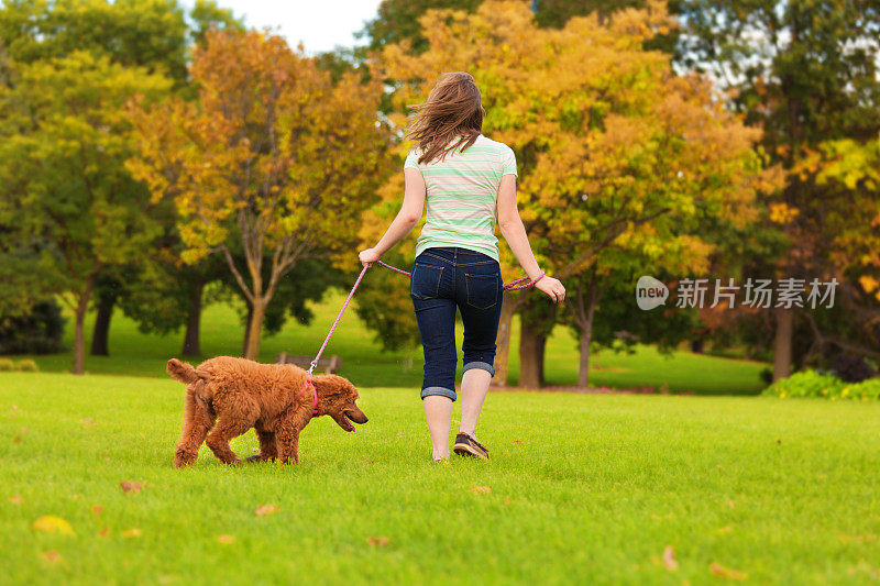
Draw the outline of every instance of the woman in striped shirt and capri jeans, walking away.
M476 420L495 374L495 336L502 311L498 266L501 232L535 287L559 303L562 284L538 267L516 207L516 159L509 146L482 134L483 104L466 73L441 76L428 100L416 106L407 137L418 145L404 164L404 203L378 243L360 254L370 266L397 244L428 212L416 245L409 295L425 351L421 398L432 456L449 460L455 400L455 309L464 322L461 428L454 451L488 457L476 441Z

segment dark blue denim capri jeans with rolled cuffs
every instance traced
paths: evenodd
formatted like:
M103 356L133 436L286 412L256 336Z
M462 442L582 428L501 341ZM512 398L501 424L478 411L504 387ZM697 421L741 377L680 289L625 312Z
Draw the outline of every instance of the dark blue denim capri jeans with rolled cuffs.
M498 262L458 247L427 248L416 257L409 297L416 309L425 351L421 398L440 395L455 400L455 309L464 323L464 372L495 374L495 336L504 288Z

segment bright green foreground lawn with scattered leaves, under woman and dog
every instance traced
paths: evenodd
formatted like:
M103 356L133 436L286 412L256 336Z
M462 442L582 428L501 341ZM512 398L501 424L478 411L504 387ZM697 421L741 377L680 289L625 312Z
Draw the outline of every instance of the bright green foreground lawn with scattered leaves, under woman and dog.
M316 420L298 466L204 449L177 471L182 385L0 375L3 584L725 582L712 564L755 583L880 577L880 405L498 392L480 429L492 461L437 466L415 390L361 394L370 422ZM76 534L33 531L48 515Z

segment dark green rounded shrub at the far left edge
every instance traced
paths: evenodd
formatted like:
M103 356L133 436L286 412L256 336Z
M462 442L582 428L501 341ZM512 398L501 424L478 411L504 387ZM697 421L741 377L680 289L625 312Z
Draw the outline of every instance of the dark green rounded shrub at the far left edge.
M34 305L20 318L0 316L0 354L52 354L62 350L64 318L54 300Z

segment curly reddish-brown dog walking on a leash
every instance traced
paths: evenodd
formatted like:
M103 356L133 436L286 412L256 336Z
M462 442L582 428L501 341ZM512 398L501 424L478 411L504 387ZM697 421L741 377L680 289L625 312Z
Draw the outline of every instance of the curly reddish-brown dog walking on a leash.
M220 462L240 464L229 441L254 428L260 460L288 464L299 462L299 432L312 417L330 416L345 431L354 431L352 421L367 421L354 405L358 389L341 376L314 376L312 394L306 385L308 373L292 364L218 356L196 368L172 358L166 368L187 385L183 433L174 451L178 468L196 461L206 436Z

